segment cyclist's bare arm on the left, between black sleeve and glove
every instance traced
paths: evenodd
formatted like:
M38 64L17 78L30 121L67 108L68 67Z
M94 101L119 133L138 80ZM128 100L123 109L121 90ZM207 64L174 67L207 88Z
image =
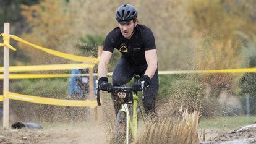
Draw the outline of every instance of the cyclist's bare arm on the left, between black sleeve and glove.
M103 51L101 54L100 62L98 65L98 77L106 77L109 60L112 53L109 51Z

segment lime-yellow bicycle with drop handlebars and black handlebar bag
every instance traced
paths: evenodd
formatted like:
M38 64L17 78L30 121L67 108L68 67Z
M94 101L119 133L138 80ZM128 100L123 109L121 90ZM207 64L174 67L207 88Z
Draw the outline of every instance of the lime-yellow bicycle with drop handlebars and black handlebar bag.
M139 82L139 75L134 76L134 83ZM142 99L144 98L145 87L144 81L141 82L141 91L142 91ZM121 109L119 109L117 117L116 117L116 124L114 127L114 143L129 143L129 137L135 139L137 135L138 129L138 114L140 111L140 115L143 118L143 122L146 123L145 120L145 112L142 109L142 106L139 102L139 98L137 92L132 93L132 87L127 87L126 85L122 86L113 86L111 92L117 93L117 96L114 98L114 103L121 104ZM100 87L98 85L98 81L96 81L96 95L95 98L97 99L98 106L101 105L100 103ZM130 119L130 113L128 104L132 104L132 121ZM139 111L138 111L139 110ZM124 124L126 137L119 132L120 125ZM131 135L129 135L129 132Z

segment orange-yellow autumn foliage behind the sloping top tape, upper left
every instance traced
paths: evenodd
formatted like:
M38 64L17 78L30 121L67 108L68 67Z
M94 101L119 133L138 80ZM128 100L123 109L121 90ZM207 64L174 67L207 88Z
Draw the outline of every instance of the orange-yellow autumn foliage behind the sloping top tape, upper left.
M31 43L44 46L49 49L72 53L72 41L75 41L77 35L73 31L74 13L68 8L69 3L66 1L41 1L40 4L32 6L22 5L22 15L30 25L30 31L23 33L23 39ZM29 54L32 64L54 64L65 62L62 59L40 53L38 49L27 48L28 46L19 43L26 53Z

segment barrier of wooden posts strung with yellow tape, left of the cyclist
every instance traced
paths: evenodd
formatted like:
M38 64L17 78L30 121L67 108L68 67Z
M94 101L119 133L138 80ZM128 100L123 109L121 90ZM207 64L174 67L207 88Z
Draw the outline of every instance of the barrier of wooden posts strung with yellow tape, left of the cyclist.
M4 79L4 96L0 96L0 101L4 101L4 116L3 116L3 127L8 129L9 127L9 99L27 101L30 103L39 104L50 104L56 106L82 106L95 108L97 106L96 101L93 98L93 67L98 63L100 56L94 57L83 57L76 56L74 54L62 53L59 51L54 51L53 49L44 48L36 44L30 43L23 40L15 35L9 35L9 23L4 23L4 33L0 36L3 37L4 43L0 43L0 46L4 46L4 67L0 67L0 72L4 72L0 77ZM9 66L9 49L16 51L16 49L11 46L10 38L19 41L20 43L27 44L32 48L40 49L45 53L51 54L53 56L62 57L64 59L69 59L72 61L83 62L83 64L53 64L53 65L38 65L38 66ZM99 54L101 53L101 48L98 49ZM9 79L24 79L24 78L49 78L49 77L70 77L70 76L80 76L74 74L9 74L9 72L34 72L34 71L48 71L48 70L66 70L66 69L89 69L89 82L90 82L90 100L60 100L54 98L43 98L39 96L21 95L17 93L9 92ZM93 114L93 109L91 114ZM98 111L98 109L96 109ZM99 113L99 112L97 112ZM96 114L96 113L95 113ZM95 116L96 117L96 116ZM100 119L99 119L100 120Z

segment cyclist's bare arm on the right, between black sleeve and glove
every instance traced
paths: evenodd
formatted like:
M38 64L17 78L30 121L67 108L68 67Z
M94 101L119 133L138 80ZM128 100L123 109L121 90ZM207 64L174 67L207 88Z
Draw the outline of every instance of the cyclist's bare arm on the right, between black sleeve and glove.
M145 51L145 57L148 64L145 75L148 75L150 79L154 76L157 69L157 51L156 49Z

